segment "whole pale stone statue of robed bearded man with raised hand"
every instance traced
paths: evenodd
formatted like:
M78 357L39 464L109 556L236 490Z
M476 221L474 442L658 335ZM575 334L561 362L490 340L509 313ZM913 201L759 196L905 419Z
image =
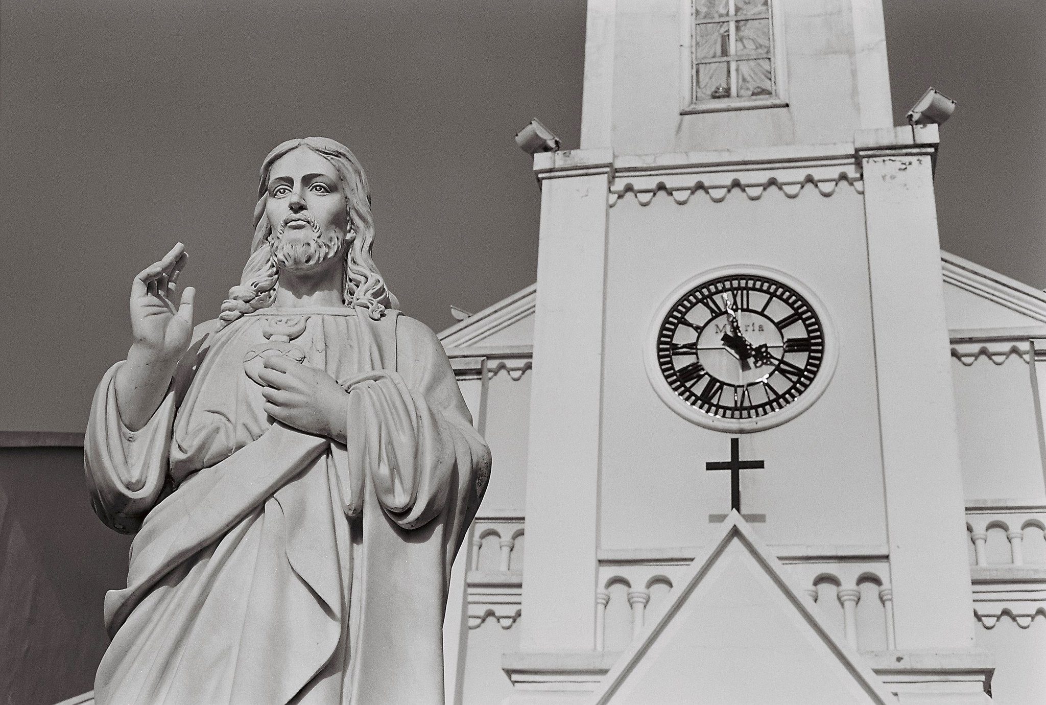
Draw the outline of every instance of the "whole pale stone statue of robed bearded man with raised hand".
M262 166L251 255L192 327L181 245L131 290L103 378L92 505L136 533L107 594L99 705L442 703L454 555L491 455L436 337L370 256L366 178L295 139Z

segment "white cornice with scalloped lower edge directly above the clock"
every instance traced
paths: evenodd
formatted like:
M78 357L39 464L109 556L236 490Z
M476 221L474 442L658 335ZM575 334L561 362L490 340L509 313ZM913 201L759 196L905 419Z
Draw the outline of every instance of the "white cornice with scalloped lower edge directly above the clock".
M646 206L663 192L683 205L698 191L715 203L731 191L756 201L772 187L791 199L806 186L826 197L844 182L859 194L864 191L852 144L623 156L614 161L609 204L614 206L631 194Z

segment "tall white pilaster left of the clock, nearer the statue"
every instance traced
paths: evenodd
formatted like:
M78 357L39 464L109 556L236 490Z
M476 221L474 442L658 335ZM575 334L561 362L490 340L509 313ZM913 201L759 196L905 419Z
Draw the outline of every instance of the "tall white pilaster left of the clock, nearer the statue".
M609 150L539 154L542 185L520 649L591 651Z

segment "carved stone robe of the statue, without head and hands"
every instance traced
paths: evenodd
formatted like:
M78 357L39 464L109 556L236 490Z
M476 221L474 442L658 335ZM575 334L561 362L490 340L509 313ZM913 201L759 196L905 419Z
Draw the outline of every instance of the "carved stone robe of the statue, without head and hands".
M265 354L348 390L345 446L267 416L245 371ZM134 432L120 364L85 442L95 511L137 530L95 701L442 703L450 569L491 456L432 332L397 312L255 312L195 343Z

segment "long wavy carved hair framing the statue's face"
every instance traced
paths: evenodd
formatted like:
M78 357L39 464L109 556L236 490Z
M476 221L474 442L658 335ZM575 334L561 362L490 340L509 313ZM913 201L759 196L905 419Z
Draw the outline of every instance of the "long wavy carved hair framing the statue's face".
M279 272L273 260L272 228L266 218L269 199L269 172L277 159L304 146L320 155L338 172L348 208L348 231L345 234L345 281L342 299L346 305L367 310L370 318L379 319L385 309L399 308L395 297L385 286L378 267L370 257L374 244L374 221L370 214L370 190L363 167L347 146L326 137L289 139L277 145L262 163L258 202L254 206L254 240L251 256L244 266L240 283L229 290L222 303L218 328L258 309L272 305L279 287Z

